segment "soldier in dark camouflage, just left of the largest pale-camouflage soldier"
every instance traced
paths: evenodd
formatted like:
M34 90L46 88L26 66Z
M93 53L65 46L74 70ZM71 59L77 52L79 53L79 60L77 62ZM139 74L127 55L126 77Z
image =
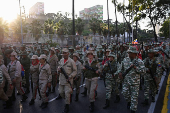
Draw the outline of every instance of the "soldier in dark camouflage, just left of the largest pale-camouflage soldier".
M106 109L110 105L110 98L112 90L116 93L115 103L120 101L119 89L117 87L117 76L114 76L114 73L117 71L117 62L115 60L115 55L109 54L109 61L107 61L103 67L103 72L106 73L106 104L103 109Z

